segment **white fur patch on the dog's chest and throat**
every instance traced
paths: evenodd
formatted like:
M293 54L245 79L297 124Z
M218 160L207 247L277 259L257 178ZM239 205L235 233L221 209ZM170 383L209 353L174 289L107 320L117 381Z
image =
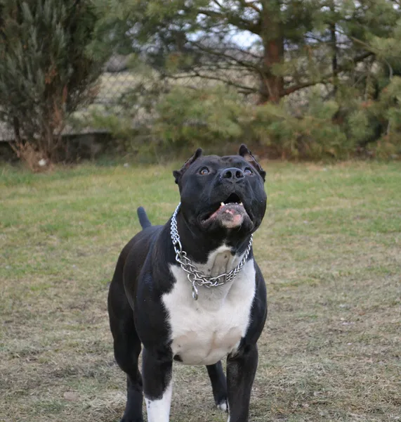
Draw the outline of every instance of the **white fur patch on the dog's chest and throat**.
M209 255L206 264L196 264L204 274L216 276L234 268L242 257L232 257L222 246ZM178 265L171 265L176 279L163 295L169 313L171 348L183 364L211 365L235 352L249 326L255 295L254 260L246 262L235 279L215 288L199 288L192 299L192 286Z

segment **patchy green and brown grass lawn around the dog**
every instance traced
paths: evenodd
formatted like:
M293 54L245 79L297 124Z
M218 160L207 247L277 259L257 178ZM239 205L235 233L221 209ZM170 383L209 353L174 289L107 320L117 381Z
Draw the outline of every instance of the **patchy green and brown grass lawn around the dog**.
M251 421L400 421L401 164L264 166ZM136 207L176 207L172 168L0 168L0 421L119 420L107 284ZM171 421L226 421L203 367L175 366Z

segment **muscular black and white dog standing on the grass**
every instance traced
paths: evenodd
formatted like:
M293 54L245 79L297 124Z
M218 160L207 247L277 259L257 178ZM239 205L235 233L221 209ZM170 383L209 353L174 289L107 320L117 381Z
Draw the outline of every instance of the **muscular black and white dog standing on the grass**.
M145 394L147 421L169 422L176 360L206 365L216 405L229 422L246 422L267 314L251 248L265 214L265 172L242 145L226 157L199 148L173 175L176 212L152 226L138 209L143 230L122 250L110 284L114 355L127 374L121 421L143 421Z

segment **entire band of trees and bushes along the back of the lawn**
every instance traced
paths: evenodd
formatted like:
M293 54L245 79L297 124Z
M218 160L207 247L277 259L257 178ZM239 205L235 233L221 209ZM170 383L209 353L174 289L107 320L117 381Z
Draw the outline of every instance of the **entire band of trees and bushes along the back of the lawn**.
M60 158L67 123L107 129L119 150L153 158L199 145L221 152L239 140L270 157L401 155L397 0L0 8L2 118L48 160ZM117 58L130 86L99 104L98 77Z

